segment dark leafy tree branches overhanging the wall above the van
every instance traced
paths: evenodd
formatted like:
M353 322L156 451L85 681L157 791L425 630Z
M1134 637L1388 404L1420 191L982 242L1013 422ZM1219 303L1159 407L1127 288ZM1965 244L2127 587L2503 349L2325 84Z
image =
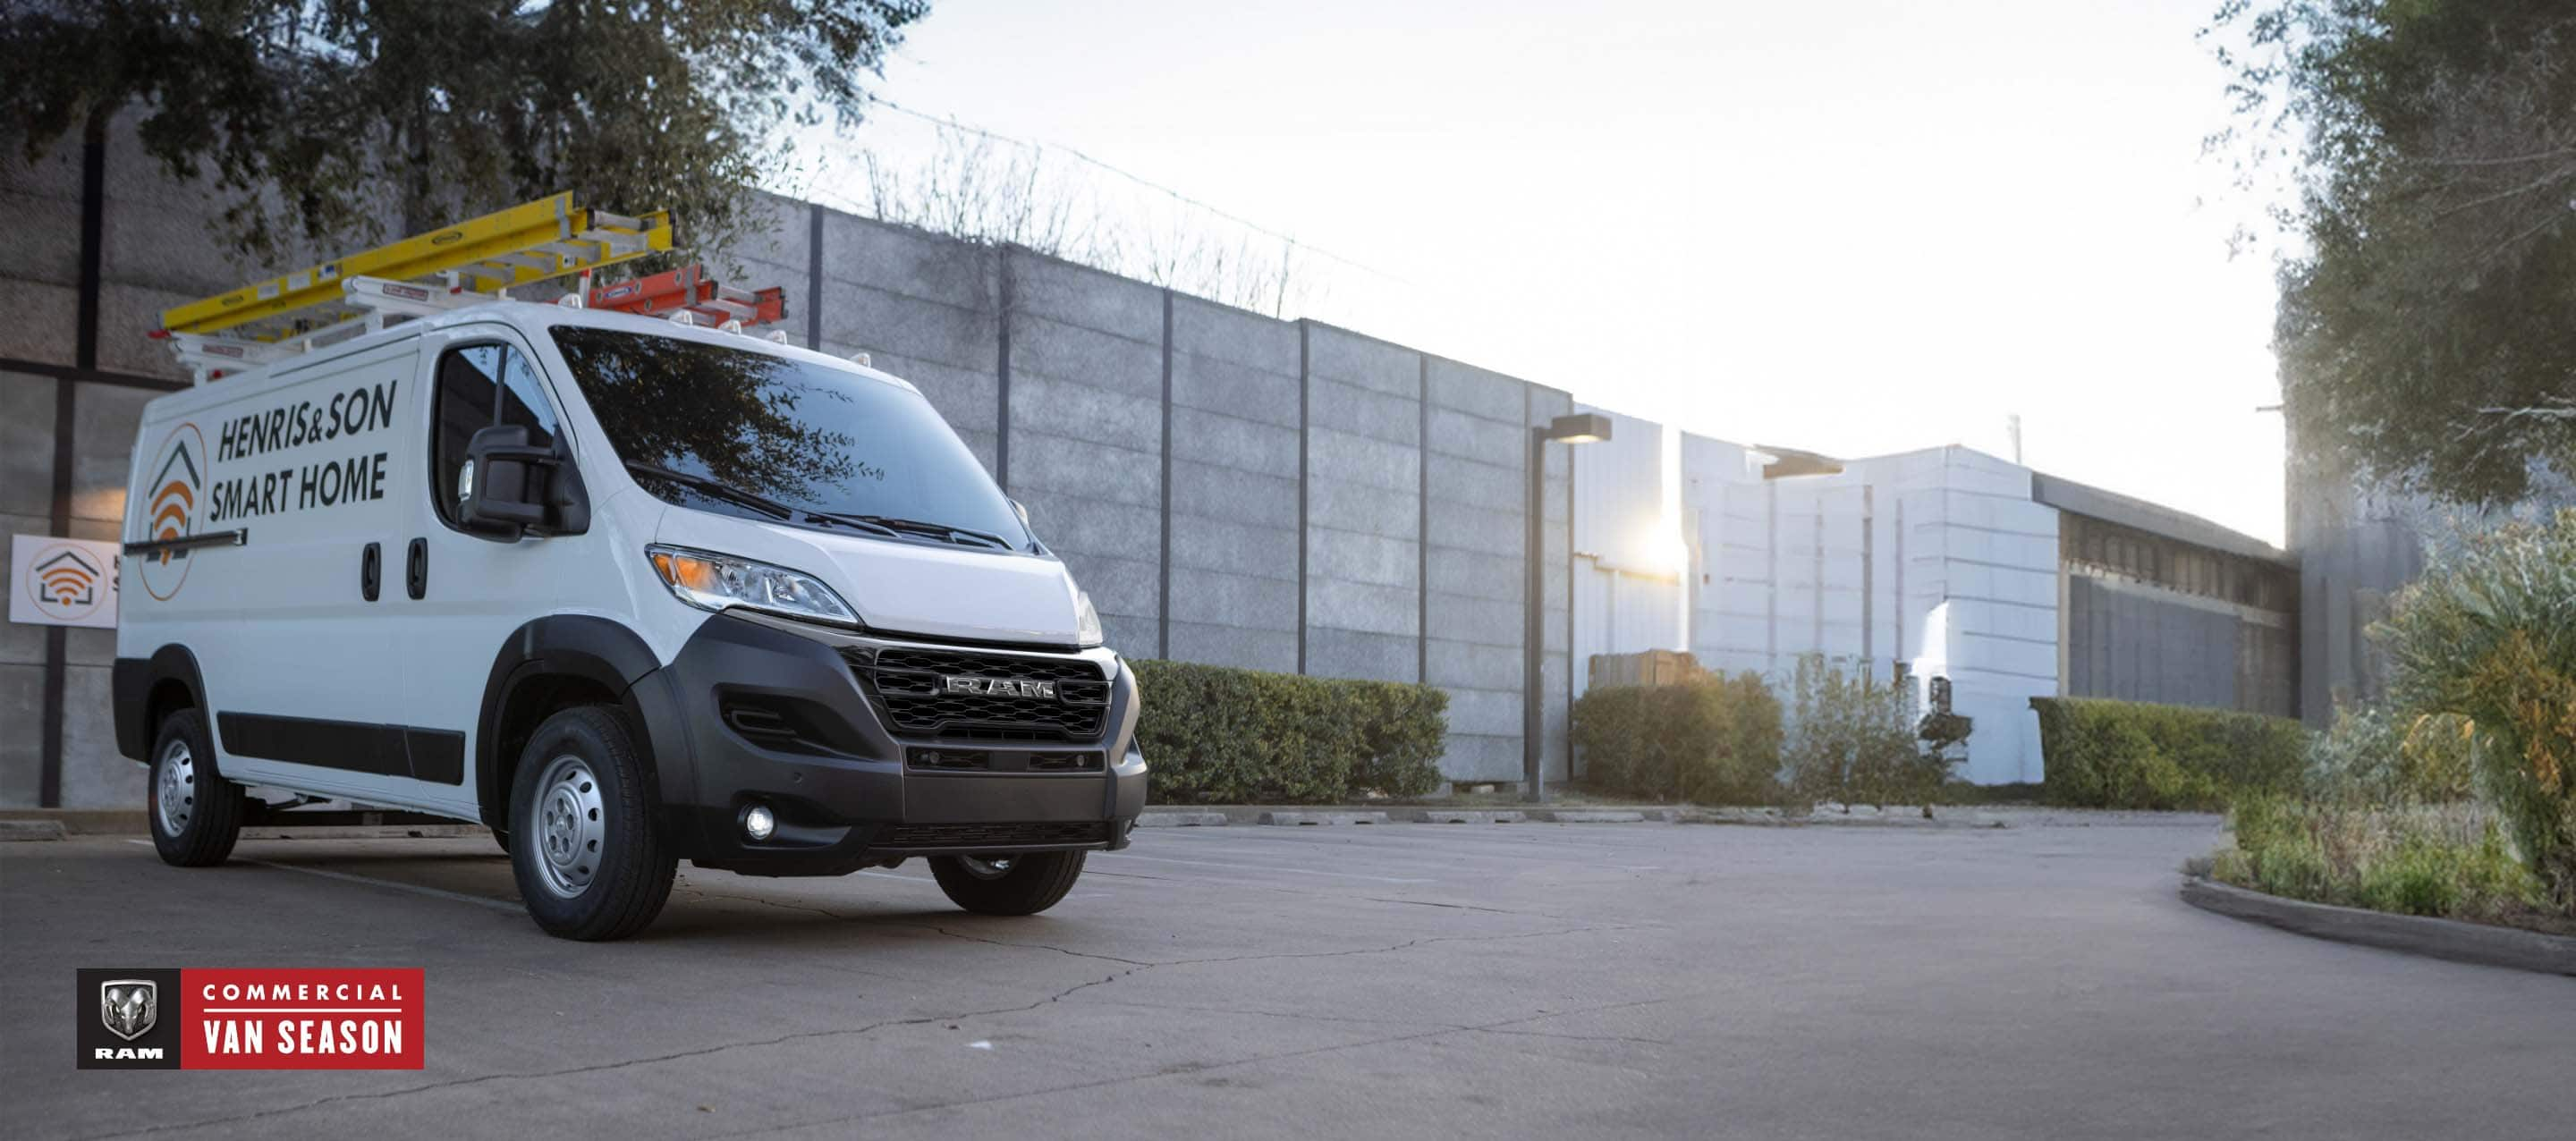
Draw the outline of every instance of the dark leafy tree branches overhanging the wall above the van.
M144 149L211 175L252 260L384 240L554 191L747 224L788 126L850 124L927 0L10 3L0 129L41 157L139 106ZM386 209L392 206L392 209Z

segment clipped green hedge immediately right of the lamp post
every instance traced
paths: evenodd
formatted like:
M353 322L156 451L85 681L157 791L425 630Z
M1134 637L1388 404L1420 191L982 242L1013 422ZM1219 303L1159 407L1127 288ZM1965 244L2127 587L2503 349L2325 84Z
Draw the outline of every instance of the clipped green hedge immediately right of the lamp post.
M1602 685L1574 701L1584 786L1610 796L1770 804L1780 770L1780 698L1759 675L1685 685Z

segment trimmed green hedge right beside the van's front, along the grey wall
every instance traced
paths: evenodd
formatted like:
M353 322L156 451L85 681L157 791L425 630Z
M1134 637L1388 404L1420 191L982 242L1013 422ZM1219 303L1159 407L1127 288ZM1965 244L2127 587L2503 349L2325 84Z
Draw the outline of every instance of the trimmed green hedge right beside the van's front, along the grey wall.
M1128 662L1151 804L1329 804L1440 786L1448 693L1190 662Z

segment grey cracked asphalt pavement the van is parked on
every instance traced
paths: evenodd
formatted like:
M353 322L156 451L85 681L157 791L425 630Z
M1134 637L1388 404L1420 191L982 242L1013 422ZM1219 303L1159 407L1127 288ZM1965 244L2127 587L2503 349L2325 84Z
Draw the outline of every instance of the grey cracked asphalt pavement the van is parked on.
M2184 907L2208 816L1149 829L1028 919L489 840L0 845L0 1133L2568 1138L2576 981ZM80 1071L80 966L420 966L422 1071Z

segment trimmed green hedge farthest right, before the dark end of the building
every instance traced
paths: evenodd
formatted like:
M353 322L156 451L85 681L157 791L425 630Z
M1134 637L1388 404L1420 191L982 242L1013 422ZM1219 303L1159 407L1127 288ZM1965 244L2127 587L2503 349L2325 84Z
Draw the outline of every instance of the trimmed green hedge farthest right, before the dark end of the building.
M2045 798L2079 809L2226 809L2239 793L2295 793L2308 729L2282 716L2110 698L2030 698Z

